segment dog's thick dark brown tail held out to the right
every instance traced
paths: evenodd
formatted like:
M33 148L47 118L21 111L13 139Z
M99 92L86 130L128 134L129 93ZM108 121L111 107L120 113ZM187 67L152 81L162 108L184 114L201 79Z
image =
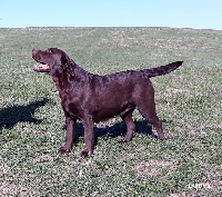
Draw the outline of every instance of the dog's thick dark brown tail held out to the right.
M172 72L173 70L179 68L182 63L183 61L175 61L165 66L151 68L151 69L144 69L144 70L141 70L141 72L148 78L163 76L165 73Z

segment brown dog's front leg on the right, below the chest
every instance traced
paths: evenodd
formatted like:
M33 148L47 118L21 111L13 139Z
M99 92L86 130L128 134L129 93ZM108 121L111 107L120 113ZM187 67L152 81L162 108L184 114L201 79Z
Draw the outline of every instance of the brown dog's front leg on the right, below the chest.
M94 148L94 130L91 117L83 120L83 127L84 127L85 149L82 150L81 156L88 157L93 154L93 148Z

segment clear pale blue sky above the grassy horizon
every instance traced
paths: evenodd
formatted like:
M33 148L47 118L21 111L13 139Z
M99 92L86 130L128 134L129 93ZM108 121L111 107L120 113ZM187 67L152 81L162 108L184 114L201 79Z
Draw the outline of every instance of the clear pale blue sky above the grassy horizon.
M222 0L0 0L0 28L26 27L222 30Z

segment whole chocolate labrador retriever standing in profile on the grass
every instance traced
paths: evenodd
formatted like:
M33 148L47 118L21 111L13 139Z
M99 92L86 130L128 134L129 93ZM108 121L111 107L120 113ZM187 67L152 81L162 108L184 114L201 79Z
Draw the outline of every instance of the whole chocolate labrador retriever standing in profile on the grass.
M84 128L85 149L81 152L82 157L93 152L93 122L120 116L127 125L123 141L130 141L135 130L132 119L135 108L154 126L158 138L165 139L162 122L155 114L154 89L149 78L169 73L182 61L99 76L83 70L58 48L32 50L32 58L39 62L34 71L49 72L59 90L67 121L65 144L60 154L71 151L77 119L83 122Z

